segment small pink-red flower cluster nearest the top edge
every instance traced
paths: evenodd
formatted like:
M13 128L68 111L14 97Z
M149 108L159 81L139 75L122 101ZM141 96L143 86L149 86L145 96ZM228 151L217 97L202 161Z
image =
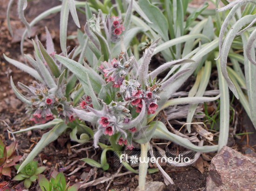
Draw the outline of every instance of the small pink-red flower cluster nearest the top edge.
M124 26L122 25L122 19L121 17L112 16L110 23L111 25L111 40L113 42L116 42L119 39L119 35L122 33L122 31L125 30Z

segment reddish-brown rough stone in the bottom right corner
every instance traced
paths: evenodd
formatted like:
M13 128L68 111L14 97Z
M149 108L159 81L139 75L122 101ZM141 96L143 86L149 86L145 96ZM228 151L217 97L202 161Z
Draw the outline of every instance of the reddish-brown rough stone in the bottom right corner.
M255 191L256 158L223 146L209 166L204 191Z

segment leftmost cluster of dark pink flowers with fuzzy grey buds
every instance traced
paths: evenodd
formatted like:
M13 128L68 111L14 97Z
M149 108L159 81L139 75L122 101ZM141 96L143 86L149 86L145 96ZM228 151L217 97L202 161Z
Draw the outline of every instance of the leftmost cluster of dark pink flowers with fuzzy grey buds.
M29 92L28 99L33 103L27 105L27 112L32 115L31 121L35 123L46 123L54 118L53 111L67 121L74 121L72 102L67 102L66 97L59 97L51 92L43 83L33 82L30 86L22 85L21 88ZM65 90L65 86L62 87Z

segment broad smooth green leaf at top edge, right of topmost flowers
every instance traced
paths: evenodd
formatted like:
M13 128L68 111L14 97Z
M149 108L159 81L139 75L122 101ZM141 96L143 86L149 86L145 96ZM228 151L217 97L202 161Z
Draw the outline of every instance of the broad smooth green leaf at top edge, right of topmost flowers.
M139 0L139 5L148 19L153 22L148 23L148 25L158 32L164 41L167 41L169 39L168 23L161 10L157 6L152 5L148 0Z

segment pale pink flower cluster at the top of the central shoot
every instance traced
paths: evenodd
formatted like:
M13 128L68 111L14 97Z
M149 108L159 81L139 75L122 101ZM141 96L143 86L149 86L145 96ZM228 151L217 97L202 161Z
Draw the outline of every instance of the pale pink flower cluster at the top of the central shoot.
M104 61L98 68L101 73L104 74L107 82L112 81L113 86L119 88L125 79L125 76L133 69L134 57L128 57L124 52L118 58L118 61L114 58L110 63Z

